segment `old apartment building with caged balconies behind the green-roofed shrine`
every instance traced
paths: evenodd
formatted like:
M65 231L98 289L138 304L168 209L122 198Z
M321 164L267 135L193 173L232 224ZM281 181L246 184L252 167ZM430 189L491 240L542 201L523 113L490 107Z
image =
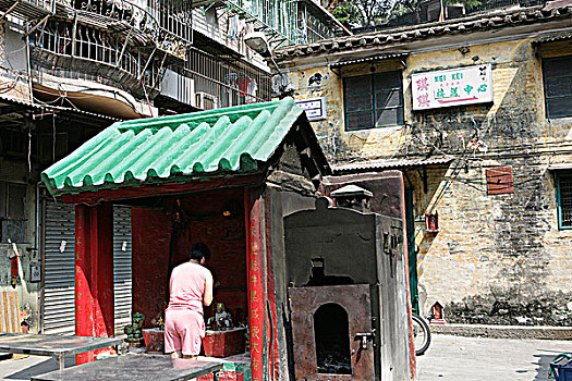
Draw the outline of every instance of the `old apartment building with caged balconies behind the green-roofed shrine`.
M1 0L0 291L29 330L74 331L74 208L39 173L120 120L271 98L245 44L348 35L314 1ZM131 315L131 214L114 210L115 325Z

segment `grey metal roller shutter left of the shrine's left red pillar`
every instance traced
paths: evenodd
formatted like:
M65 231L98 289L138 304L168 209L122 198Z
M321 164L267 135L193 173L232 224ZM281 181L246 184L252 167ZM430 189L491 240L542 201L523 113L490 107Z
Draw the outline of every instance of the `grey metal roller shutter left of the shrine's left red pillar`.
M75 332L75 208L46 201L44 333Z

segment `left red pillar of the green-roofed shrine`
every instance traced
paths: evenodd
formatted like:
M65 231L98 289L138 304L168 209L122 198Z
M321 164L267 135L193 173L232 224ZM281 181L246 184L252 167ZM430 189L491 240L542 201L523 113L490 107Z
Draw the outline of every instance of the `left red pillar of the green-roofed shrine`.
M113 336L113 208L75 207L75 334ZM93 352L76 356L92 361Z

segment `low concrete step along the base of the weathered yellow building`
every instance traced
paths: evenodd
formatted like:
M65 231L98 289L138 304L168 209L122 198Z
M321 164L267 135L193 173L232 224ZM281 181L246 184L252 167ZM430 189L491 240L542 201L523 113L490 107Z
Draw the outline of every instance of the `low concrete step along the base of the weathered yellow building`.
M572 327L430 324L431 333L466 337L572 340Z

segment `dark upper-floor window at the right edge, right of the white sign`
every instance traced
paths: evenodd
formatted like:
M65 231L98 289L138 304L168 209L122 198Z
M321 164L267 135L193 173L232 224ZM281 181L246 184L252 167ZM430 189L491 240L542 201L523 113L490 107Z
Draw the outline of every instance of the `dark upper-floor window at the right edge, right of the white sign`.
M572 116L572 56L543 60L547 118Z

